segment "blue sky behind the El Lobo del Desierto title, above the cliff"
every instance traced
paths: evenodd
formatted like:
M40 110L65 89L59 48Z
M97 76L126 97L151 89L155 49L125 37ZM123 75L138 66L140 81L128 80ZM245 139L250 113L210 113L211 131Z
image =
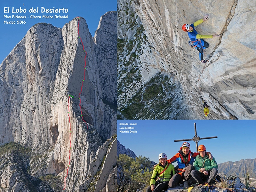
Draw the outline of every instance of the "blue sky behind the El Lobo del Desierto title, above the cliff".
M25 6L23 6L23 4ZM96 1L70 1L70 0L44 0L44 1L31 1L31 0L2 0L0 2L1 7L1 21L0 21L0 64L4 58L12 51L16 44L26 35L29 28L39 22L51 23L53 26L62 28L65 23L74 19L77 16L83 17L90 30L92 36L98 27L100 16L104 15L108 11L117 10L116 0L96 0ZM4 7L10 7L9 13L4 13ZM22 9L26 8L26 13L12 13L12 7L14 11L20 7ZM39 8L38 13L29 13L29 9L33 7ZM67 13L41 13L41 7L45 9L65 8L68 9ZM4 15L11 16L11 19L4 18ZM26 19L12 19L12 15L26 16ZM39 16L41 19L30 19L31 15ZM43 19L42 15L68 15L68 19ZM29 18L28 18L29 17ZM16 21L15 24L4 24L4 20ZM26 24L17 24L18 20L25 20Z

